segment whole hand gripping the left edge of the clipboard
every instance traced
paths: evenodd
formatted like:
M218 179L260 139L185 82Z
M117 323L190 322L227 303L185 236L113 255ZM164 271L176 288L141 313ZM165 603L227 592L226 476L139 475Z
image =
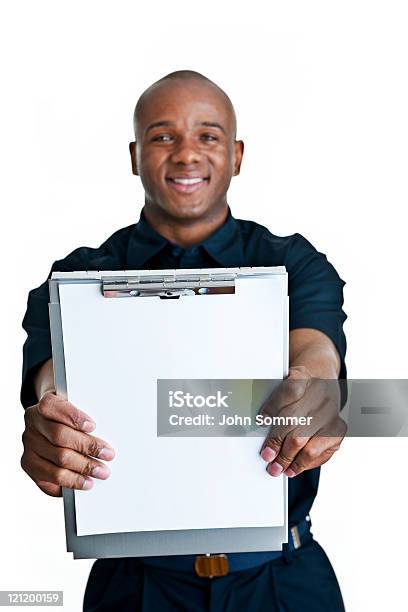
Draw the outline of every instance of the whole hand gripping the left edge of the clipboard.
M62 495L61 487L91 489L91 476L105 480L110 474L95 457L110 461L115 456L110 444L89 435L94 429L87 414L63 397L45 393L25 411L21 467L53 497Z

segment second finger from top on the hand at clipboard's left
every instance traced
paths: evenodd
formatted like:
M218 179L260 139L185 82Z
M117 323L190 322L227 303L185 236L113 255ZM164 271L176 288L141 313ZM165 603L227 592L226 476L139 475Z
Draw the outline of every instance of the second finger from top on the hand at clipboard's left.
M45 418L39 418L36 422L37 431L39 431L51 444L70 448L90 457L98 457L105 461L111 461L115 456L115 451L108 442L91 436L90 434L75 431L67 425L48 421Z

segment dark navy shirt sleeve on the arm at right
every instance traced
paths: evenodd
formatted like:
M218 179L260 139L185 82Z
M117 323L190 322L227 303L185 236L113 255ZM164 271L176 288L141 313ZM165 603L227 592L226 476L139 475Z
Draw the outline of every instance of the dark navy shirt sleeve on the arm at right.
M307 327L326 334L334 343L340 357L339 378L345 379L345 282L327 261L326 256L319 253L300 234L294 234L286 268L289 278L289 329Z

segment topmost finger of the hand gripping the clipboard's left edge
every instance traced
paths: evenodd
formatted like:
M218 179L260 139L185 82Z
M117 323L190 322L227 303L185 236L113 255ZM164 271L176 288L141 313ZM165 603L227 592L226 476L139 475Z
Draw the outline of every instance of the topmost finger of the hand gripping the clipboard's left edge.
M55 393L46 393L37 404L37 409L45 419L63 423L73 429L89 433L96 427L90 416Z

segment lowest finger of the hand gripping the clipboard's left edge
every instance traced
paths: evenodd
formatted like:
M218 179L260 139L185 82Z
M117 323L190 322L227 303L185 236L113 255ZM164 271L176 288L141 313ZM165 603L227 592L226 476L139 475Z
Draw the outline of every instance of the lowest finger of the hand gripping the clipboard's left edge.
M56 466L32 451L24 452L21 466L36 484L46 481L61 487L80 490L88 490L93 487L91 478Z

